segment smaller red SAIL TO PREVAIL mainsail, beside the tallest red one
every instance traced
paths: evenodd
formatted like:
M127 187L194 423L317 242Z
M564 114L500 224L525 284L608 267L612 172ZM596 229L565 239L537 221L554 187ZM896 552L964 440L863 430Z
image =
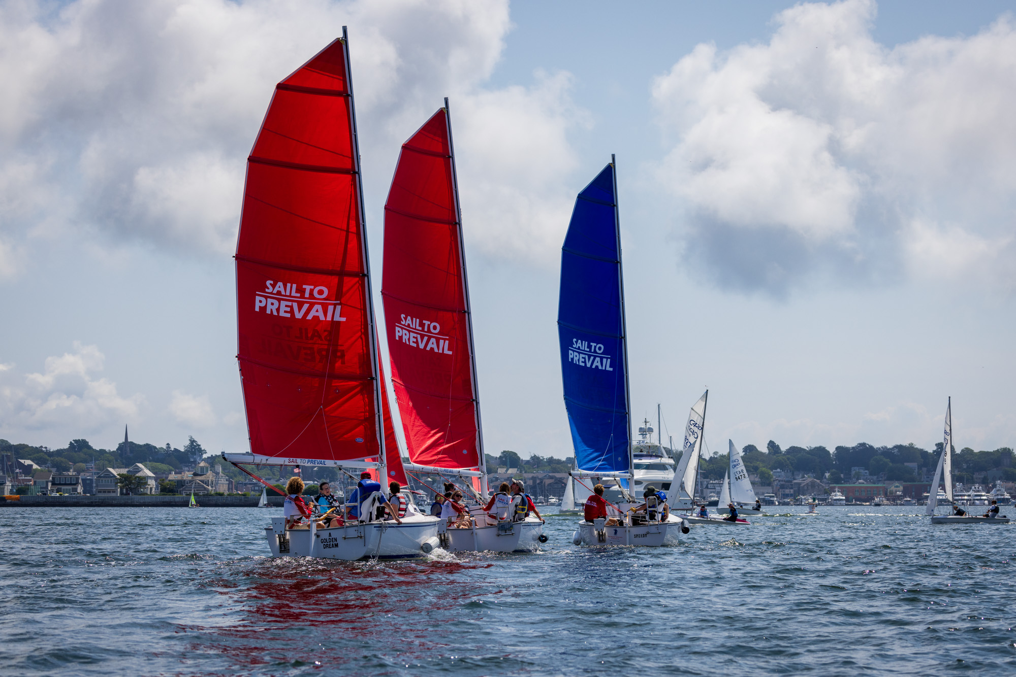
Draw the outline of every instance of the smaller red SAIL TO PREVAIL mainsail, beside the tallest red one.
M384 214L381 294L414 463L480 466L479 416L448 117L402 145Z

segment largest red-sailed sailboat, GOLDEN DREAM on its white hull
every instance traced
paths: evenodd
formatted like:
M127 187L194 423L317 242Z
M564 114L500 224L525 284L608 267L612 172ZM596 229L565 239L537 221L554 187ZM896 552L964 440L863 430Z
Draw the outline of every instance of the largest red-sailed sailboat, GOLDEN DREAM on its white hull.
M293 528L265 528L273 556L415 557L437 547L437 518L375 520L387 482L405 478L378 353L347 48L343 27L276 85L248 156L235 260L251 451L223 457L266 488L243 466L376 473L381 490L372 482L335 514L359 507L370 521L318 530L300 498Z

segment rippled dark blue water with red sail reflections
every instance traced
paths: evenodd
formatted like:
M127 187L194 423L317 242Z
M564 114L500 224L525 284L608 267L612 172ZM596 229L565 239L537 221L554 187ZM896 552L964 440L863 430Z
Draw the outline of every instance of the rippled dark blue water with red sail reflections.
M1014 526L771 507L676 547L270 559L257 509L0 509L7 674L1016 670ZM1016 514L1016 506L1007 507ZM1003 512L1006 512L1004 510Z

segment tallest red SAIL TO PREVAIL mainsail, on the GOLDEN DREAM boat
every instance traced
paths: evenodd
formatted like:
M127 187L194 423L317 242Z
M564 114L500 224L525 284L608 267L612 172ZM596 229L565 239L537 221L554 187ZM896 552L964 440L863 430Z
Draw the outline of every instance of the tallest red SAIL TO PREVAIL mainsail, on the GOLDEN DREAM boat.
M354 125L336 40L276 85L248 158L237 320L254 454L344 461L381 449Z

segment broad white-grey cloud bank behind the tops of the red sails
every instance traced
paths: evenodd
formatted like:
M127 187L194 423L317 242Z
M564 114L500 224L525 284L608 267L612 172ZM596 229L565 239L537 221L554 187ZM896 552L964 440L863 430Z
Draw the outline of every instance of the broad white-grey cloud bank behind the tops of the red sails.
M0 5L0 276L21 269L22 242L71 226L114 246L232 253L273 86L343 24L370 203L448 95L470 242L545 258L567 223L567 134L584 116L567 74L487 86L505 0L14 0Z

